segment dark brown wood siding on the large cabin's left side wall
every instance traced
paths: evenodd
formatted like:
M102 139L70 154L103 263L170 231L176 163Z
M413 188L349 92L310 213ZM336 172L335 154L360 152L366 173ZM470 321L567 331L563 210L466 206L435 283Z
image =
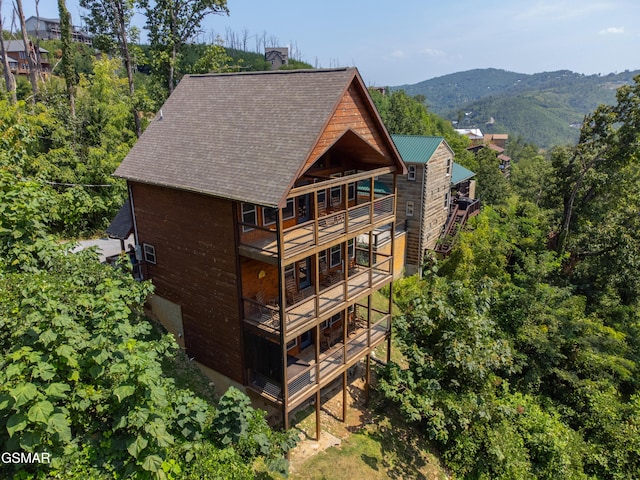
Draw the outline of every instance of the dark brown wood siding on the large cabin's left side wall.
M187 354L244 382L232 203L131 184L139 242L155 247L148 264L155 293L182 308Z

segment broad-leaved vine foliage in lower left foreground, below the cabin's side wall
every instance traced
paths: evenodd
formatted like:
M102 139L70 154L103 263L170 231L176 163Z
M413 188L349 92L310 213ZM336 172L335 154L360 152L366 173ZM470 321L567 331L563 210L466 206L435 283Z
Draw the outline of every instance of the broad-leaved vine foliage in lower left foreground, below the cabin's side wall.
M47 452L51 463L4 464L3 476L252 478L257 459L286 473L295 442L244 394L216 409L163 373L178 347L142 315L150 284L126 262L66 254L46 236L33 243L40 225L23 224L13 250L24 258L0 270L0 449Z

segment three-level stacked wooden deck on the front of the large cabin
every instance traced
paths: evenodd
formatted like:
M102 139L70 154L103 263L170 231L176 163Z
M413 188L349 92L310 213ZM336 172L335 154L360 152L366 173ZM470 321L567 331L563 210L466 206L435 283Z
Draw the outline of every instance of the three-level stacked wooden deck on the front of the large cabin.
M288 411L388 338L390 304L383 311L371 302L393 279L392 255L375 249L375 233L395 219L395 195L375 188L381 172L294 188L294 205L311 213L304 221L239 222L245 336L263 339L267 349L277 345L283 359L268 374L248 362L248 383ZM338 191L334 202L330 192ZM254 272L277 276L277 288L256 287Z

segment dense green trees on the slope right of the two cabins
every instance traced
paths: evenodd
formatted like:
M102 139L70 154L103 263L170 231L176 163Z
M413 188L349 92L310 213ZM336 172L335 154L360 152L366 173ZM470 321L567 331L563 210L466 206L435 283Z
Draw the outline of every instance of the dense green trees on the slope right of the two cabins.
M394 285L406 365L379 388L460 478L640 474L639 82L575 146L511 140L509 181L489 149L457 156L482 213L450 257ZM414 100L378 99L393 133L433 133Z

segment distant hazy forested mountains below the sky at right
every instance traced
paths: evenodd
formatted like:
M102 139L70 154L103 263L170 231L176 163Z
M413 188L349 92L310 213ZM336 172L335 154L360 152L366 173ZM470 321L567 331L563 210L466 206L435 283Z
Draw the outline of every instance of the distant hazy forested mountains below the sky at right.
M543 148L573 144L584 116L612 105L616 88L640 71L583 75L568 70L533 75L477 69L392 87L422 95L428 108L461 128L509 133Z

